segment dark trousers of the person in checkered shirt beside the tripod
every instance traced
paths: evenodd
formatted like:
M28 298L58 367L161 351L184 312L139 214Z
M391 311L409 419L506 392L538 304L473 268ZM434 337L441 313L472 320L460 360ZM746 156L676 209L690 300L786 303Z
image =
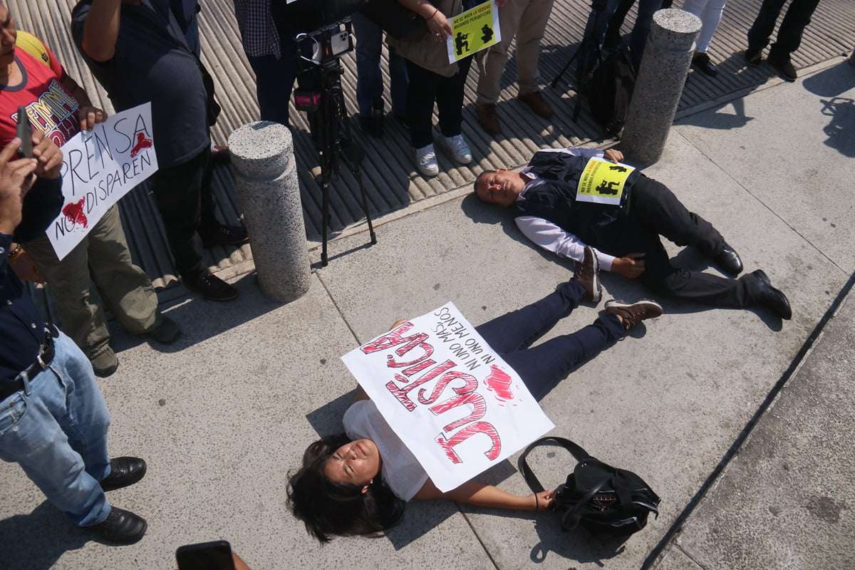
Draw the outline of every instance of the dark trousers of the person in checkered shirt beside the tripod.
M294 79L297 78L297 47L292 41L281 41L282 56L247 56L256 74L256 95L262 120L288 125L288 103Z

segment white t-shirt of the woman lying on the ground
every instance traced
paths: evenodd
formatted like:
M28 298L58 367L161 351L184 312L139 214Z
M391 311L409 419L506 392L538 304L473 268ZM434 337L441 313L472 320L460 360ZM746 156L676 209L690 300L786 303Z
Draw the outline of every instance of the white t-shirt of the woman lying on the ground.
M380 450L380 471L386 485L404 501L410 501L428 481L428 473L404 442L392 432L371 400L353 403L345 412L345 432L351 439L370 439Z

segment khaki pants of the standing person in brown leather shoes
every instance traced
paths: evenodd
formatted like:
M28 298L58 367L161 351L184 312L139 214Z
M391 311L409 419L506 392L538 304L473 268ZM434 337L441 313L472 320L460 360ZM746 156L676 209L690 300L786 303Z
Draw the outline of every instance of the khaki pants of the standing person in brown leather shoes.
M508 62L510 42L516 36L516 81L519 94L540 89L540 40L552 11L553 0L508 0L498 9L502 41L481 51L478 61L478 103L496 103L501 91L504 64Z

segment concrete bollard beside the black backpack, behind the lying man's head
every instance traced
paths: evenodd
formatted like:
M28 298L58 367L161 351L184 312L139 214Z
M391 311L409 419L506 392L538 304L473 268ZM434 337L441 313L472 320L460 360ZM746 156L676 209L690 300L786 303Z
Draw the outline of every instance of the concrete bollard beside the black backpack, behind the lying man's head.
M700 18L683 10L653 15L621 136L620 148L629 161L647 165L662 157L700 27Z

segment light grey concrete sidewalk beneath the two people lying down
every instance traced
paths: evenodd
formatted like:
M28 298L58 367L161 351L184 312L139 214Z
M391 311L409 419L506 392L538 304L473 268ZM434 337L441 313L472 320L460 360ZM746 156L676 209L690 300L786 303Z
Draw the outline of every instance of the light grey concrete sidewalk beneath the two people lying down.
M740 251L746 270L764 267L787 291L793 320L666 302L667 314L649 321L638 338L627 338L581 367L542 401L557 425L555 433L640 473L663 497L659 519L625 548L616 551L583 532L557 532L550 513L488 512L450 502L410 504L404 523L387 538L338 539L321 548L286 511L286 473L319 432L340 430L350 401L354 381L339 356L392 321L450 299L478 324L543 297L569 278L569 264L534 250L510 217L472 197L456 197L387 221L378 227L379 243L369 249L359 249L362 234L333 242L329 266L314 274L310 292L294 303L264 299L254 279L245 276L238 281L236 303L215 305L192 297L170 303L168 314L186 336L169 351L119 333L121 366L101 383L113 417L110 447L116 455L139 454L150 467L143 481L110 499L145 516L149 534L125 548L88 541L44 502L20 468L2 464L3 567L169 568L180 544L215 538L231 541L254 570L640 567L855 272L855 69L842 61L796 84L774 85L684 118L672 131L663 161L648 169L716 224ZM834 97L833 105L823 103ZM722 125L728 128L716 128ZM707 267L692 251L681 253L678 262ZM604 285L606 298L647 295L610 274ZM824 375L839 381L827 391L848 399L798 400L803 406L834 403L842 408L841 418L852 415L851 385L846 385L852 358L842 346L834 350L836 344L826 343L843 335L837 342L848 342L851 349L852 303L845 309L848 313L831 321L823 343L791 380L793 386L801 378ZM575 331L595 316L595 309L581 307L547 338ZM828 365L823 350L837 354ZM802 377L811 359L817 368L813 376ZM832 378L832 372L838 376ZM670 550L661 567L697 568L691 559L704 568L777 567L779 560L792 560L791 567L845 566L806 556L819 546L843 549L852 542L852 503L845 492L852 469L836 458L851 446L840 432L838 439L828 439L829 446L840 442L830 451L805 447L811 426L796 421L805 414L819 418L811 411L819 408L791 404L787 409L783 403L781 397L781 408L775 409L792 420L761 420L758 434L764 430L766 439L750 440L715 493L689 518L680 550ZM834 426L840 429L839 423ZM851 423L842 427L852 431ZM798 451L801 459L788 461L794 470L802 461L828 457L823 472L828 475L817 481L840 491L829 495L807 488L817 495L811 505L819 507L813 510L799 502L802 497L782 497L773 477L780 470L751 459L758 448L768 447L765 441L780 443L779 458L785 450ZM826 449L822 439L811 441ZM533 455L545 485L557 485L571 467L560 452ZM851 453L846 458L851 461ZM840 467L831 468L835 465ZM740 475L752 473L758 483L769 484L767 491L747 492ZM513 461L485 478L508 491L525 491ZM768 497L780 497L777 520L791 520L789 529L807 527L809 516L818 518L821 524L807 529L816 545L807 549L810 544L794 540L787 532L795 531L780 523L761 534L755 523L740 519L738 528L746 532L718 532L736 527L719 522L736 512L725 503L733 497L741 497L739 504L755 516L768 512L763 510ZM802 506L787 508L788 501ZM829 522L835 516L838 520ZM771 534L775 530L781 534ZM847 535L848 540L840 539ZM777 544L787 544L793 558L760 556L761 549L774 552ZM747 558L752 553L758 557Z

